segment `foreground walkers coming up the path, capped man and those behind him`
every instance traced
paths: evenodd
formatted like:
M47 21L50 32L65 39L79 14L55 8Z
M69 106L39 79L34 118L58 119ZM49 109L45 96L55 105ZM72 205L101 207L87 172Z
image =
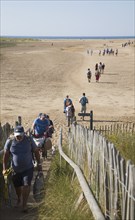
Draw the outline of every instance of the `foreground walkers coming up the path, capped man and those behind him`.
M12 181L16 190L16 207L22 205L22 211L27 212L27 201L30 193L31 181L33 178L34 162L37 162L37 170L42 173L42 157L47 158L47 150L51 149L51 137L54 132L54 125L48 115L40 113L32 124L28 135L23 126L14 128L4 146L3 155L3 176L9 168L11 160Z

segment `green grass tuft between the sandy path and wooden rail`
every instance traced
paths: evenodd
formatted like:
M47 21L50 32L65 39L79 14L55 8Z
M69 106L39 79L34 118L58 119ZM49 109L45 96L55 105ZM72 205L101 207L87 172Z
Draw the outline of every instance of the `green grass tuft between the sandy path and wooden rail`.
M59 155L52 165L49 180L46 183L45 200L39 208L39 220L93 220L86 201L82 201L77 210L75 204L81 189L77 178L72 179L73 170L63 159L60 167Z

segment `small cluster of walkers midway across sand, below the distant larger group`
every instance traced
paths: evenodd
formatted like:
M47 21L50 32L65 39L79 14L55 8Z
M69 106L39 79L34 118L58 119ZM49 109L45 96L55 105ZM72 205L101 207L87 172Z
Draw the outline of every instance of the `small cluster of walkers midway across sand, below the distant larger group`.
M99 82L99 78L100 78L101 74L104 73L104 69L105 69L105 64L104 63L102 63L102 62L100 62L99 64L96 63L96 65L95 65L96 82ZM91 82L91 77L92 77L92 72L91 72L90 68L88 68L87 79L88 79L89 83Z

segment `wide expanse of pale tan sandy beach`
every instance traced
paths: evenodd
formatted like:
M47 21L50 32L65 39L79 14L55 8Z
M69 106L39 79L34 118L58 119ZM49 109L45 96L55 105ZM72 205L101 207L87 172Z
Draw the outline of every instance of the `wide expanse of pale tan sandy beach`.
M50 115L55 127L65 127L63 100L72 99L77 119L79 98L89 99L87 112L94 119L134 121L134 45L122 47L119 40L53 40L22 42L1 48L1 122L14 125L22 116L28 128L40 112ZM132 39L130 40L132 41ZM101 55L99 50L118 49L118 55ZM93 50L93 55L87 54ZM95 64L105 63L99 83ZM92 71L91 83L87 69Z

